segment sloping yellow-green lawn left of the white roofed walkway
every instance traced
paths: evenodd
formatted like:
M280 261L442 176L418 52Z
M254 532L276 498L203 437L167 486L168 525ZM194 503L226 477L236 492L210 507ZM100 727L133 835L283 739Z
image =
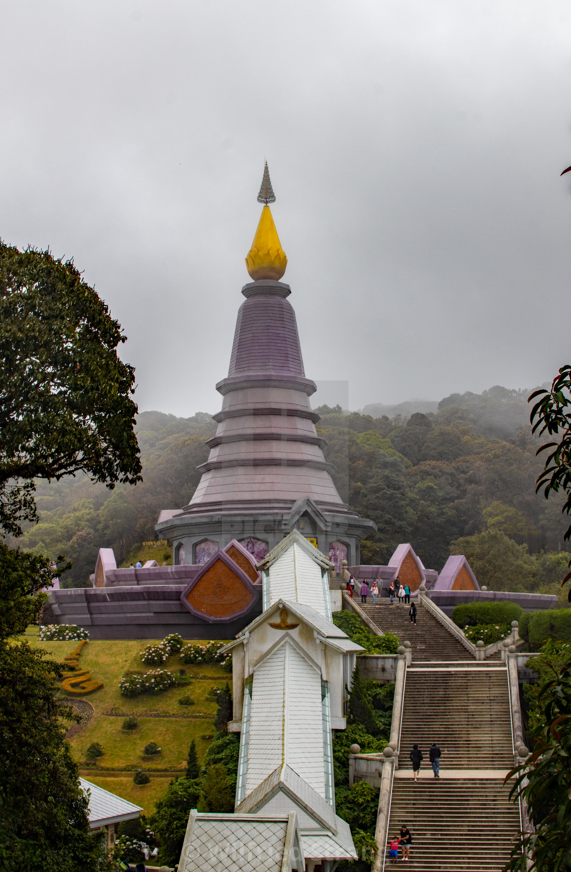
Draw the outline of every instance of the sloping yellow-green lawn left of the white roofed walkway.
M32 648L43 648L58 662L71 654L78 645L77 642L40 642L34 630L37 628L31 627L27 634L34 635L20 637L18 641L27 642ZM216 704L208 695L210 689L223 686L227 681L231 685L232 681L231 674L218 664L186 665L181 662L178 654L169 657L161 667L147 666L143 664L140 652L147 644L151 644L151 641L94 640L83 646L79 657L79 669L91 671L92 678L95 681L102 681L104 686L85 697L78 697L88 700L95 713L88 726L70 739L73 756L82 767L82 777L138 805L145 805L148 814L153 812L154 802L165 792L169 780L176 773L164 778L151 774L150 784L134 785L132 774L102 773L86 768L87 747L92 742L99 742L103 746L104 755L96 760L98 766L183 770L187 765L187 753L191 741L195 740L199 760L202 760L211 739L201 737L214 735ZM160 642L160 639L155 641ZM139 697L121 695L119 679L126 671L146 672L157 668L173 671L177 676L180 669L184 669L186 671L184 678L188 679L188 684L184 687L173 687L159 694L144 694ZM179 698L186 694L194 699L194 705L179 704ZM111 711L123 712L124 715L113 717L107 713ZM149 712L174 714L178 717L149 717ZM130 731L121 729L126 714L134 715L139 720L136 729ZM181 717L189 714L194 717ZM162 748L160 754L146 756L143 753L143 746L151 741ZM138 797L145 801L139 801Z

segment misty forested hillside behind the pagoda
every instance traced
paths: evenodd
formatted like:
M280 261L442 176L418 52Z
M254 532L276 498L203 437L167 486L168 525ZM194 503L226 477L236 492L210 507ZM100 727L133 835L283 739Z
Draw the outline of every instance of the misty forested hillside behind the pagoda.
M535 494L542 462L528 393L496 386L452 394L436 411L392 418L339 406L316 410L339 494L378 525L362 543L363 563L386 563L399 542L411 542L430 569L463 553L479 582L493 589L560 593L568 519L562 498ZM208 455L204 441L215 429L206 412L187 419L141 412L143 482L113 491L85 477L37 482L41 520L12 544L52 559L65 553L74 565L61 579L64 587L89 584L99 548L113 548L118 565L128 565L140 542L155 538L160 509L185 506L194 494L196 467Z

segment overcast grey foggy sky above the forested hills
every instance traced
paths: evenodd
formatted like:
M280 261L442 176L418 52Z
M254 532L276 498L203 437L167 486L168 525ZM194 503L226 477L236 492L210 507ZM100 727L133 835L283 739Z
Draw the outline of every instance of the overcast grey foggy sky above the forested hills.
M266 158L351 408L571 358L568 2L2 0L0 79L0 237L74 257L140 410L220 408Z

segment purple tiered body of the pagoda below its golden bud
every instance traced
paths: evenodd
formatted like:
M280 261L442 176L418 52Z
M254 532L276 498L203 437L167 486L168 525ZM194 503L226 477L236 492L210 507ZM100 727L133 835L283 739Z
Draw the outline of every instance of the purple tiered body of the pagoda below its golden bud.
M331 479L317 436L289 285L264 279L244 286L228 378L210 455L184 514L289 511L309 497L325 511L349 513Z

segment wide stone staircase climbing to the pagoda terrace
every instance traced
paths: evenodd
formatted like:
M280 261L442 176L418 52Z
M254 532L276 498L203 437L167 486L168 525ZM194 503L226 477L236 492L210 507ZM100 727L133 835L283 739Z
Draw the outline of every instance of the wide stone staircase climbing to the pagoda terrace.
M513 766L506 665L475 660L422 605L416 628L408 608L398 603L383 600L362 608L377 627L410 640L412 647L389 838L408 826L410 864L418 872L500 872L520 831L520 807L508 800L510 788L504 786ZM416 783L409 760L415 742L425 756ZM429 760L432 742L443 752L438 780ZM398 862L400 856L399 851ZM384 869L390 868L387 851Z

